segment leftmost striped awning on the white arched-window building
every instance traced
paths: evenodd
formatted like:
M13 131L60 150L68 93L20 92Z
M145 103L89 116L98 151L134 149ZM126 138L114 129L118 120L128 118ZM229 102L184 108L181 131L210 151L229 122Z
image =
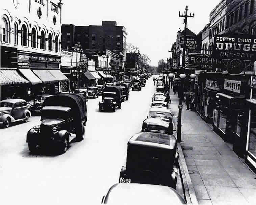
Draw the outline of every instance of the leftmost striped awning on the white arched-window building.
M23 78L15 68L0 69L0 84L11 85L11 84L23 84L30 83L28 80Z

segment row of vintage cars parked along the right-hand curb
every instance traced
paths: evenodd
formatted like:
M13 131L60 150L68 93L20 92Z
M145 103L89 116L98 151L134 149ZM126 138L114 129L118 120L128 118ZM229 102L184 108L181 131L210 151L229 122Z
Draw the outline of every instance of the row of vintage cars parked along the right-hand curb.
M171 112L164 99L164 93L154 93L141 132L128 141L119 183L103 196L102 203L186 204L175 190L179 153Z

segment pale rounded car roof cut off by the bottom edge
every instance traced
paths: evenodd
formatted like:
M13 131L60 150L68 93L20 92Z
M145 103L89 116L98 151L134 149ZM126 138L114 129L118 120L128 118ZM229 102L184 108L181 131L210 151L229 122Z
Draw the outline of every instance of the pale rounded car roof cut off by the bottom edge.
M114 184L102 197L102 204L187 204L171 187L119 183Z

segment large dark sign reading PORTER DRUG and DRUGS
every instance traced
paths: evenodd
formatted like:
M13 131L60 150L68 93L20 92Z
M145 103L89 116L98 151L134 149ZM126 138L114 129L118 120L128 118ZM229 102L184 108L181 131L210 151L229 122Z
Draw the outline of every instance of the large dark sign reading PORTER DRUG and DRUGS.
M229 73L253 71L256 37L240 33L216 35L213 43L213 57L221 59Z

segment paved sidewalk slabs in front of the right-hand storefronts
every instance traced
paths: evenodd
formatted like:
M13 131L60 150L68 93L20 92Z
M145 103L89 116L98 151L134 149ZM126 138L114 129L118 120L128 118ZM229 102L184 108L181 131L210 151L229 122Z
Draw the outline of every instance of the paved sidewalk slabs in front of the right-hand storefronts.
M170 108L178 116L179 98ZM197 114L182 109L180 143L199 204L256 204L256 175Z

